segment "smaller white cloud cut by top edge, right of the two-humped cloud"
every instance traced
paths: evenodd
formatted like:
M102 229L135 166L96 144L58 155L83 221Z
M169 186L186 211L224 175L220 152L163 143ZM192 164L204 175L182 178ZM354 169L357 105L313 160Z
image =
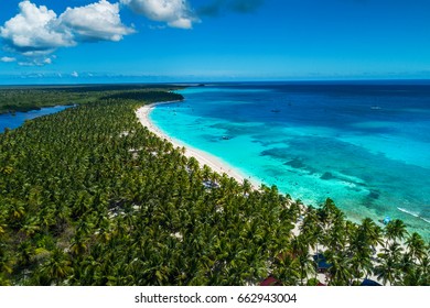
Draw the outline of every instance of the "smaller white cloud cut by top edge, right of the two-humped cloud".
M186 0L120 0L136 13L150 20L166 22L173 28L191 29L198 20Z

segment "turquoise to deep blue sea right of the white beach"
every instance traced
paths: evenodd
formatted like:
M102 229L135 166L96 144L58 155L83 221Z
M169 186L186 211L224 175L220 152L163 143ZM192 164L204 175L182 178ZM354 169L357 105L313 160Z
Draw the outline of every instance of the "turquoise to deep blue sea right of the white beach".
M430 86L206 85L158 106L165 133L347 217L401 219L430 240Z

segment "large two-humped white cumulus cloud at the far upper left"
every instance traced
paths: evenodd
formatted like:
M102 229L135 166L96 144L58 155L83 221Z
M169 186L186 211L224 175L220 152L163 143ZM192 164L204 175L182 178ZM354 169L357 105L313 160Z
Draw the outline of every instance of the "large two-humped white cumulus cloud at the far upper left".
M121 23L119 4L106 0L79 8L67 8L60 16L45 6L29 0L19 3L19 13L0 26L4 50L25 58L22 65L51 64L50 54L58 47L80 42L120 41L133 33Z

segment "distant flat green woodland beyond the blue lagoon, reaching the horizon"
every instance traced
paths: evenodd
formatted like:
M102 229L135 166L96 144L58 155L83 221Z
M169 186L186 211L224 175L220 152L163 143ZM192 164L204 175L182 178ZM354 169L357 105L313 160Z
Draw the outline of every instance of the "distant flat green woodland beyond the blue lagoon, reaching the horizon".
M149 89L173 89L164 85L80 85L0 88L0 114L15 111L39 110L42 107L82 105L101 97L135 96ZM176 87L178 88L178 87Z

